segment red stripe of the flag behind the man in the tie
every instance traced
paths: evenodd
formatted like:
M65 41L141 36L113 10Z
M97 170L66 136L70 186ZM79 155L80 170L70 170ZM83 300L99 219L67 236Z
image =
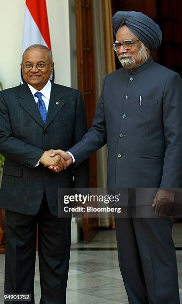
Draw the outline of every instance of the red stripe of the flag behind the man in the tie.
M46 41L47 47L51 50L46 0L26 0L26 5Z

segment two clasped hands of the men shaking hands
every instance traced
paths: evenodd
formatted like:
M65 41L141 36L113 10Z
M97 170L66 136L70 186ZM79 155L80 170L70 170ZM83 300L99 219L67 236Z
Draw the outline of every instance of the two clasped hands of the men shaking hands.
M58 173L65 170L72 162L71 155L62 150L48 150L41 156L40 162L50 170Z

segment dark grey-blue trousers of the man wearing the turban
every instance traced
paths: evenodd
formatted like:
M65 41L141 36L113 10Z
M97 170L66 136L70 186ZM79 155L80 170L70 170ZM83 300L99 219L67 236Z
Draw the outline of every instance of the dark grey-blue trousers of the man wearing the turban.
M129 304L180 304L171 218L115 218Z

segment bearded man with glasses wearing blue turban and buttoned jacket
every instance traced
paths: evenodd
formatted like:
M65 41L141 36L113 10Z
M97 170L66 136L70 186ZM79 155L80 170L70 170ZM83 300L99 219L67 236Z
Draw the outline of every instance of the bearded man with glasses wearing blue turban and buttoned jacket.
M150 56L162 40L152 19L119 11L112 25L123 67L105 76L93 124L69 150L72 157L61 150L52 156L77 166L107 143L109 188L158 189L153 217L115 218L119 265L129 304L180 304L173 219L166 215L182 176L182 79Z

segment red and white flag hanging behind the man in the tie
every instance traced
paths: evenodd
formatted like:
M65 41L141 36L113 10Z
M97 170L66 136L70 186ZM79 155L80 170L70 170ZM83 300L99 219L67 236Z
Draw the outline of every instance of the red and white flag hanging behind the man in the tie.
M51 50L46 0L25 1L22 54L32 44L43 44ZM51 79L54 81L54 72Z

